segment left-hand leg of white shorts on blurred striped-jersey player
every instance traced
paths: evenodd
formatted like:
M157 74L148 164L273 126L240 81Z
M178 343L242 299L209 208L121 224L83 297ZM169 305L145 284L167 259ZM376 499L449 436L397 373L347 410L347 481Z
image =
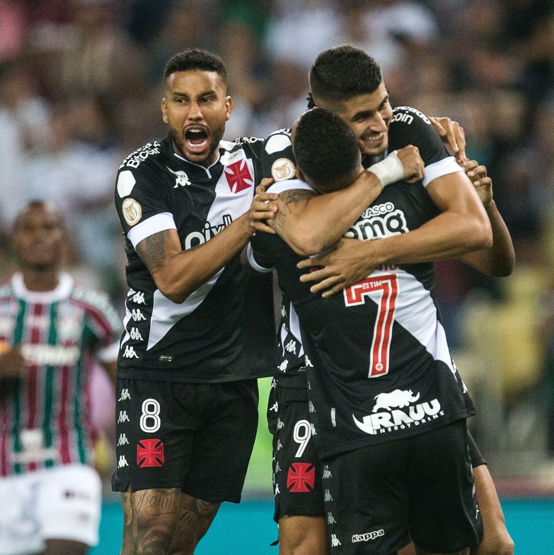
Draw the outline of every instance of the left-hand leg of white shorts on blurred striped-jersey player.
M40 476L39 472L29 472L0 478L2 555L36 553L44 548L37 511Z

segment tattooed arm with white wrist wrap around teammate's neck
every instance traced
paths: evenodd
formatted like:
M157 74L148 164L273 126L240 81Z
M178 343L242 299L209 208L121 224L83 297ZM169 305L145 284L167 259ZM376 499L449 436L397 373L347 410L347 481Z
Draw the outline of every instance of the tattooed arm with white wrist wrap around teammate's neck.
M389 166L394 171L388 171ZM336 244L385 185L401 179L417 181L423 174L419 150L409 145L370 166L354 183L339 191L318 195L291 189L280 193L271 225L296 253L304 256L321 253Z

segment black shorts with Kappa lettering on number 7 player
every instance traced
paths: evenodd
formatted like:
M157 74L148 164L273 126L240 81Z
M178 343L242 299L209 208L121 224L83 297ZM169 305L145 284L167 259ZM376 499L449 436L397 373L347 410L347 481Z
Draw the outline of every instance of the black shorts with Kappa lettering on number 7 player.
M324 462L333 553L388 555L410 539L432 553L479 545L482 521L465 420Z

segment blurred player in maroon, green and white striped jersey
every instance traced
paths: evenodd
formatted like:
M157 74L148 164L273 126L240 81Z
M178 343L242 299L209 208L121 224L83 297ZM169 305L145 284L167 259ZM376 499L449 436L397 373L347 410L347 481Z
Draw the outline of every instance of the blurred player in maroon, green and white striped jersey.
M64 225L42 202L18 215L19 270L0 287L0 553L79 555L98 543L88 371L115 380L120 319L61 271Z

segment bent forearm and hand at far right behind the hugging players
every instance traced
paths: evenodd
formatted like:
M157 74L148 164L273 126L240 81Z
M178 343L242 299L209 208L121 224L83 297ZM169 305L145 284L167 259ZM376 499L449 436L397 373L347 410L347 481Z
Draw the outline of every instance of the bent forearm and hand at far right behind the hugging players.
M485 166L480 166L475 160L466 164L465 172L487 211L492 228L492 246L490 249L467 253L460 260L484 274L504 278L512 273L515 253L510 232L492 199L492 180L487 176Z

